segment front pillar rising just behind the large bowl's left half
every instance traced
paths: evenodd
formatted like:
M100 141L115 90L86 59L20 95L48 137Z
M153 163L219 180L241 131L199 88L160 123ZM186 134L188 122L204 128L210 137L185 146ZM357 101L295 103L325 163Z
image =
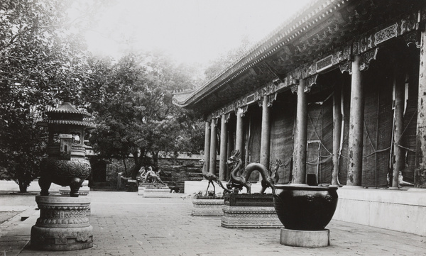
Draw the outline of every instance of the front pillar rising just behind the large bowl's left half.
M305 80L301 79L297 87L297 113L293 181L295 184L305 183L306 179L306 143L307 143L307 99Z

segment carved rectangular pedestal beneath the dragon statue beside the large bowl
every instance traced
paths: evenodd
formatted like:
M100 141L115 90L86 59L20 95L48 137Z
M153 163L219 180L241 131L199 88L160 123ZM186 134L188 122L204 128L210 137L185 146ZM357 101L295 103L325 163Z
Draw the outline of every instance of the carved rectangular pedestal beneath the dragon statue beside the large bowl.
M224 228L281 228L272 194L227 194L222 208Z

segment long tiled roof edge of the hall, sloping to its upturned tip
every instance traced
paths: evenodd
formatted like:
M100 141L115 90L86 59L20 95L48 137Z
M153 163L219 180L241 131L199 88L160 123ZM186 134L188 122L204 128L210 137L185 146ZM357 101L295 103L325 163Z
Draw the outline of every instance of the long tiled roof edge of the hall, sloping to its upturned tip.
M177 106L191 108L224 84L236 79L236 77L239 77L239 75L258 64L258 62L281 50L287 43L300 38L306 30L315 26L316 23L321 22L327 16L332 15L334 11L342 9L349 1L354 0L312 1L312 3L302 9L306 11L300 11L292 18L289 18L281 26L273 30L272 33L267 35L266 38L261 40L261 42L254 45L240 60L224 69L220 74L192 92L185 99L179 100L173 98L173 103Z

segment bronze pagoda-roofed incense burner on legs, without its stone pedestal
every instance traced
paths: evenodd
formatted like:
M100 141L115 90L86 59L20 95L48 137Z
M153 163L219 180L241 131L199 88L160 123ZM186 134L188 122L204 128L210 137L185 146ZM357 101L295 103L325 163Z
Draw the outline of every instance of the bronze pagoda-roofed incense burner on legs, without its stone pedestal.
M91 171L90 163L85 159L84 133L94 124L84 121L89 116L64 103L52 111L46 112L48 120L40 121L39 126L48 128L48 157L41 163L40 195L48 196L50 184L70 186L70 196L77 197L82 182Z

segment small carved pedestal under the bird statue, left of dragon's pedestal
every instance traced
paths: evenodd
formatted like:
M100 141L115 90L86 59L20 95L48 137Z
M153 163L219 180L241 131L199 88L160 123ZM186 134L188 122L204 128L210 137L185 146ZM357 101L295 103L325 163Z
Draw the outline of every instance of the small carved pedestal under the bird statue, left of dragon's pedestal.
M224 206L224 199L202 198L195 197L192 199L192 216L223 216L222 206Z

